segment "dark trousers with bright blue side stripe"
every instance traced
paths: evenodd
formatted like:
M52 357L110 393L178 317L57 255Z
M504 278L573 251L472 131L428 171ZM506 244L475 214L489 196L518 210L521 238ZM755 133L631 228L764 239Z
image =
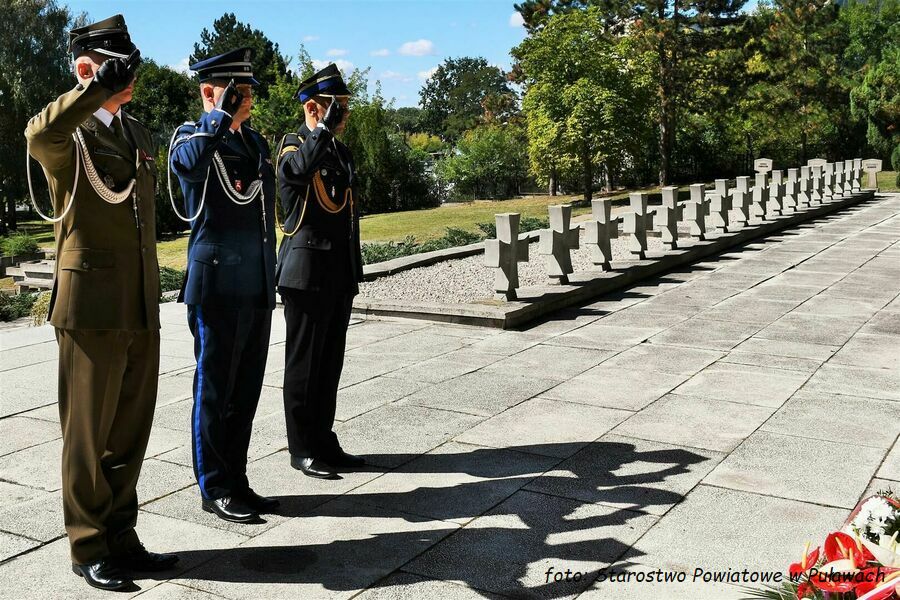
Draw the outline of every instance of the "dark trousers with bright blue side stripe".
M247 449L259 404L272 311L188 305L194 336L194 476L204 498L240 494L249 487Z

